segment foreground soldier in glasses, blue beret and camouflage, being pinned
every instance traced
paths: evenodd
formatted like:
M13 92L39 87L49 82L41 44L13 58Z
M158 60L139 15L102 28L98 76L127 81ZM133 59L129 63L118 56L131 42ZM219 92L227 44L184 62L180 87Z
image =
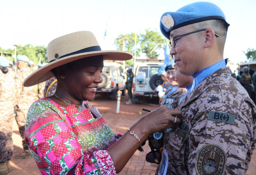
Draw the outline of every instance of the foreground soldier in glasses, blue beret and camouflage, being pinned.
M163 136L156 174L245 174L256 142L255 104L223 60L229 24L217 5L197 2L163 13L162 34L179 71L193 76L177 109L181 125Z

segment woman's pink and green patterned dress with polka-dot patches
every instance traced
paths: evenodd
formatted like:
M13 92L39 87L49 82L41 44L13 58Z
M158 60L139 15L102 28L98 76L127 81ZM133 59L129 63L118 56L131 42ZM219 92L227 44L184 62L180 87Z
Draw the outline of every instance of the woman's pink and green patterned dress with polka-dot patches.
M75 105L64 108L42 98L35 101L27 114L25 141L42 175L116 174L114 163L106 151L119 136L102 116L93 117L93 106L78 111Z

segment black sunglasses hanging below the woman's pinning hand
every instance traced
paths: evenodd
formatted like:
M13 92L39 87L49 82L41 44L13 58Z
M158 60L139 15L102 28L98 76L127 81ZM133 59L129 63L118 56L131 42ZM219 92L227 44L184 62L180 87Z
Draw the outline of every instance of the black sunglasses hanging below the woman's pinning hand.
M160 152L160 149L163 146L163 137L159 140L155 140L153 137L148 137L148 145L151 151L147 153L146 161L149 163L160 164L162 159L162 153Z

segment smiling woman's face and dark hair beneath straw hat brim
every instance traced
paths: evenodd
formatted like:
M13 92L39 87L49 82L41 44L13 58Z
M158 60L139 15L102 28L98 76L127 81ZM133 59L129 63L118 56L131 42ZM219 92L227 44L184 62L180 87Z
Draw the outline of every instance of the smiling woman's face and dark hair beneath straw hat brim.
M68 94L78 101L92 101L102 82L103 57L79 59L67 69L65 85Z

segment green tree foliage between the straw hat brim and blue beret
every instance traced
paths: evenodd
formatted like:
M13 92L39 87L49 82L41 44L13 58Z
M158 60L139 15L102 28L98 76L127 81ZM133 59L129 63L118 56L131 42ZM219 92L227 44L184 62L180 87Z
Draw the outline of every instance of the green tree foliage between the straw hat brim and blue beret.
M120 41L123 38L127 38L125 41L125 51L128 51L134 55L135 50L135 33L119 35L115 39L117 50L123 50L123 42ZM146 29L145 34L137 34L136 36L136 57L139 57L142 53L147 58L157 59L159 54L158 49L165 47L165 39L162 34L155 30Z

